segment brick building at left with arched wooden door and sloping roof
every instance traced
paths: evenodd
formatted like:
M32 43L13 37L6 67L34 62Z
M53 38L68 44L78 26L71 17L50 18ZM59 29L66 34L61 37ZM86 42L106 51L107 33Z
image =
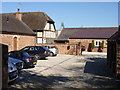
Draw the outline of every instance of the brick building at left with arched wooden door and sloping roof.
M8 45L9 51L35 45L35 33L21 20L0 14L0 43Z

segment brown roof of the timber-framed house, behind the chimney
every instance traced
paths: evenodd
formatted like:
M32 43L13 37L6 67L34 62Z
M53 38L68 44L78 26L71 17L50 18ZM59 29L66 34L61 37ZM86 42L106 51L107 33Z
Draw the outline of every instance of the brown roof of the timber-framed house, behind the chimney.
M20 12L22 21L25 22L32 30L44 30L47 22L54 21L44 12ZM16 13L4 13L15 16Z

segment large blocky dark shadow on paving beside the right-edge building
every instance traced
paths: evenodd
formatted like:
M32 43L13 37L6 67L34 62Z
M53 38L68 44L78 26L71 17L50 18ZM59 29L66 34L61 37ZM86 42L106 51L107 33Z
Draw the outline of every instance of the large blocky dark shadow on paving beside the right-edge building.
M87 58L89 61L86 62L84 73L90 73L94 75L112 77L109 68L107 67L106 58Z

